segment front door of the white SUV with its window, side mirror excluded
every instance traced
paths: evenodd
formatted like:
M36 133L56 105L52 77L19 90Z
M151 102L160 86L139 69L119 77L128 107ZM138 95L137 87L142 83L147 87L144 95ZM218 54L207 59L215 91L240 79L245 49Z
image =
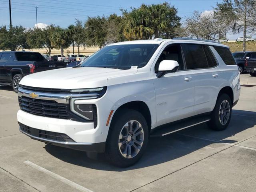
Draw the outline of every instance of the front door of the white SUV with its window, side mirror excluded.
M154 78L156 92L156 126L192 116L194 107L194 81L192 70L185 70L180 44L164 48L155 64L155 73L162 60L176 60L179 69L175 73Z

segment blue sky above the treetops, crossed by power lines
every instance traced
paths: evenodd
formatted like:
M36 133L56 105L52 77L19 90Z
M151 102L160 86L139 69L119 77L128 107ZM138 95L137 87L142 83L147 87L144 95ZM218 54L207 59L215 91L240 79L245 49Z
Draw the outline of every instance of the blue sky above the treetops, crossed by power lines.
M191 16L194 10L203 12L212 10L221 0L11 0L12 25L31 28L36 24L38 6L38 23L55 24L67 27L75 18L86 20L88 16L108 16L111 13L121 15L120 8L139 7L144 4L170 2L178 9L182 20ZM9 25L8 0L0 0L0 26ZM236 38L242 34L229 36Z

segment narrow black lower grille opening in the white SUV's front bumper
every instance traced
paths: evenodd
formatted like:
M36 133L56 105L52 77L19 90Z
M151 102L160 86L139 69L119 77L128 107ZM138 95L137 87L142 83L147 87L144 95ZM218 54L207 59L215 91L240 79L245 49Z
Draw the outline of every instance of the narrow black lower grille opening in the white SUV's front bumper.
M67 136L64 133L40 130L40 129L26 126L20 122L18 122L18 123L20 125L20 130L22 130L23 132L25 132L31 136L35 136L35 137L43 138L43 139L47 139L47 140L52 140L52 141L59 141L59 142L75 142L74 140L72 140L69 136Z

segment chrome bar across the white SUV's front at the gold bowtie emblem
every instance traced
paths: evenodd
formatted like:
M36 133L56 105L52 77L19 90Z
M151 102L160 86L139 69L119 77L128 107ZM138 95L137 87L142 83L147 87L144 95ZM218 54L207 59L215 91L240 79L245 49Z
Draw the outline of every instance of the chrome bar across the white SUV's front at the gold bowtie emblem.
M36 98L34 99L43 99L43 100L54 100L58 103L69 103L69 99L73 97L83 97L83 99L95 99L100 94L98 93L85 93L85 94L54 94L54 93L42 93L36 91L29 91L22 88L18 88L18 96L25 96L29 98L33 98L30 94L36 94Z

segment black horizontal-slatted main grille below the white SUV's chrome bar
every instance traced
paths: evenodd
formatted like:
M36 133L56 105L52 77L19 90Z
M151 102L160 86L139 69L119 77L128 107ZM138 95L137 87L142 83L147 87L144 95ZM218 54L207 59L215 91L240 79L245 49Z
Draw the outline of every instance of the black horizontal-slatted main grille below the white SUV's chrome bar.
M41 100L28 97L19 97L20 109L30 114L59 118L70 119L69 105L58 103L53 100Z

